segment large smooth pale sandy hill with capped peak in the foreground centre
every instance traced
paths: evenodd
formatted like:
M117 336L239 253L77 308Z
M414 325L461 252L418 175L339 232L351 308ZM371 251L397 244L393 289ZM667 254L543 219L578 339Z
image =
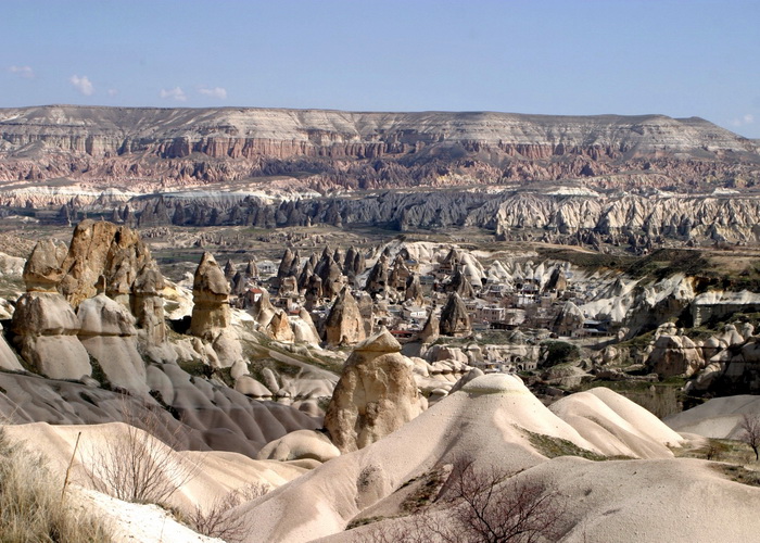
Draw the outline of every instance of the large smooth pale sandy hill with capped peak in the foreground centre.
M630 428L637 421L636 417L626 420L623 416L637 413L625 407L628 401L607 400L617 407L622 426ZM608 406L608 411L615 408ZM649 422L663 426L655 421ZM605 447L636 456L615 435L624 432L608 426L613 431L608 431ZM594 443L547 409L519 378L483 376L379 442L330 460L258 502L241 506L241 514L257 520L256 532L246 541L301 542L339 533L352 518L409 479L459 458L471 457L515 472L546 463L546 456L531 443L525 430L601 454ZM649 429L636 437L637 447L654 455L656 440L646 435L658 432L677 439L667 428ZM649 444L642 444L645 441ZM670 451L662 449L659 457L672 457Z

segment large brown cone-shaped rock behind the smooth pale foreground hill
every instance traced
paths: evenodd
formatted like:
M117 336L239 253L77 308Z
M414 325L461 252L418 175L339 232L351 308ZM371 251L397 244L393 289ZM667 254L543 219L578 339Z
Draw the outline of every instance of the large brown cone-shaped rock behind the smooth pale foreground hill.
M346 361L325 415L325 428L341 452L367 446L423 411L414 365L400 351L398 342L383 330Z

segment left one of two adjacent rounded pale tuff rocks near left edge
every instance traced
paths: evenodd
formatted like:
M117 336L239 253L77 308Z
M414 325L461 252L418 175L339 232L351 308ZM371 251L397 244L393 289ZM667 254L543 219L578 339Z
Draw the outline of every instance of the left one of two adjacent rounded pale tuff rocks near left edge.
M80 379L92 372L90 357L77 339L79 319L58 292L27 292L16 302L11 329L21 356L51 379Z

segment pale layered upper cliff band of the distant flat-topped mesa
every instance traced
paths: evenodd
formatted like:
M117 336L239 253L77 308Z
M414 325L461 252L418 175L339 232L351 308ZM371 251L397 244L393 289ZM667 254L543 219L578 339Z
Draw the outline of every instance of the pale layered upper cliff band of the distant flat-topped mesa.
M149 109L51 105L0 110L0 136L90 156L192 153L379 157L456 142L466 150L548 157L654 152L746 152L752 143L707 121L664 115L524 115L497 112L372 113L284 109ZM595 150L592 153L590 150Z

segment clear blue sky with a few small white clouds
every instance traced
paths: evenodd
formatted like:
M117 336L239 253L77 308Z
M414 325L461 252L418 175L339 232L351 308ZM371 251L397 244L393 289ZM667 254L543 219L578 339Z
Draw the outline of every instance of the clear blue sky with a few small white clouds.
M0 108L699 116L760 138L760 1L2 0Z

